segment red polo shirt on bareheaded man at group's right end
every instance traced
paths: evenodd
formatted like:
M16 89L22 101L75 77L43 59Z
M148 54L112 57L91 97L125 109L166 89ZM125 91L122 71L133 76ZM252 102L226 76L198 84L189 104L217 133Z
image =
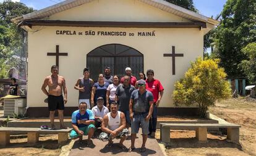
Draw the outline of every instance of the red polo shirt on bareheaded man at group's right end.
M162 84L157 79L153 79L151 82L146 80L146 89L152 92L154 97L154 103L158 100L159 92L164 90Z

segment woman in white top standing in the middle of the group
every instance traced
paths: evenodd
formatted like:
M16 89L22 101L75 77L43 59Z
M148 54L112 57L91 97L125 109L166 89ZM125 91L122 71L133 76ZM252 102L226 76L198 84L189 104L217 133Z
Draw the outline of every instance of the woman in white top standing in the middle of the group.
M109 84L106 92L106 107L109 109L109 104L111 102L114 102L114 99L116 97L116 88L119 85L119 76L114 75L113 76L113 84Z

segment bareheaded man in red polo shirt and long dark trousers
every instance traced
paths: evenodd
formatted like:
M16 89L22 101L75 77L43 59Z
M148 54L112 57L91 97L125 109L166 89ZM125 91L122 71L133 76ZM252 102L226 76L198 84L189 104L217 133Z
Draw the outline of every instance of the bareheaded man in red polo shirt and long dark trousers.
M157 123L157 107L160 104L161 98L163 97L163 86L159 80L154 78L154 71L149 69L147 70L147 80L146 80L146 89L151 91L154 97L153 113L150 118L150 123L148 126L149 134L151 138L155 138L156 132L156 123Z

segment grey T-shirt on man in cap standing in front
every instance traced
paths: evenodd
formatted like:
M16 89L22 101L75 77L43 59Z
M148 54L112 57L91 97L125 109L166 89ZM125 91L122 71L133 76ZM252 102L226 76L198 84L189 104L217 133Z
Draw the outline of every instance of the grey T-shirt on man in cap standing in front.
M153 102L153 94L146 90L143 94L140 94L139 89L132 92L130 99L133 99L133 112L145 113L149 112L150 101Z

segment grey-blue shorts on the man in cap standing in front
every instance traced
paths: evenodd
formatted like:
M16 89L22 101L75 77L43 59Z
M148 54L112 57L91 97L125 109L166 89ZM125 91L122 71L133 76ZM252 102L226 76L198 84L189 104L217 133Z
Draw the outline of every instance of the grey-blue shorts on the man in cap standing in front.
M148 134L149 121L146 121L148 113L135 113L131 121L132 134L139 133L140 126L142 127L142 134Z

